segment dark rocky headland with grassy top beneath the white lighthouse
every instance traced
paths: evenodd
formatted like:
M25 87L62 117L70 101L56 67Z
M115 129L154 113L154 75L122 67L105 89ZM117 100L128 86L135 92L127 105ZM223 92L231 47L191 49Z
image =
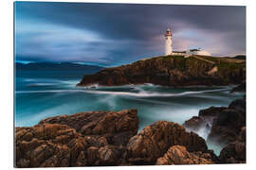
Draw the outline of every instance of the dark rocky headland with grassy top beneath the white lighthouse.
M238 61L237 61L238 60ZM163 86L240 84L246 78L246 61L212 57L156 57L132 64L106 68L84 75L78 86L153 83Z

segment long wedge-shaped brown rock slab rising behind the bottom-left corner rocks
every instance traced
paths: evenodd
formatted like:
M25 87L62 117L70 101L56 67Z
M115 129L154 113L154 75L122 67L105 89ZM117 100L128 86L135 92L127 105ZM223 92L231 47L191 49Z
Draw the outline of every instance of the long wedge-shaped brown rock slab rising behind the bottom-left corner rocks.
M112 144L127 143L137 134L137 110L90 111L46 118L39 124L61 124L75 128L82 135L110 135ZM115 135L114 135L115 134Z

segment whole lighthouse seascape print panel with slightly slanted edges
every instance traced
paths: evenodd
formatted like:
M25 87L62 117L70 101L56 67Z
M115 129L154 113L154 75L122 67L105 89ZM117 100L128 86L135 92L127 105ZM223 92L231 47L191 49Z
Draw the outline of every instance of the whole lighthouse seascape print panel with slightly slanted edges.
M246 163L246 7L14 7L15 167Z

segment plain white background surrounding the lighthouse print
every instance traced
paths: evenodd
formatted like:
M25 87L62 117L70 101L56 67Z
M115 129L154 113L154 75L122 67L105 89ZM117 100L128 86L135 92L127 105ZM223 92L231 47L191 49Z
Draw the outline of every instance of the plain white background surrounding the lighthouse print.
M48 0L45 0L48 1ZM60 1L60 0L54 0ZM71 2L71 0L61 0ZM174 166L116 166L86 167L85 169L248 169L256 168L256 1L255 0L76 0L76 2L111 2L143 4L186 4L186 5L238 5L247 6L247 164L229 165L174 165ZM13 168L13 1L0 1L0 168ZM39 168L43 169L43 168ZM68 169L68 168L47 168ZM74 169L74 168L70 168ZM77 168L77 169L84 169Z

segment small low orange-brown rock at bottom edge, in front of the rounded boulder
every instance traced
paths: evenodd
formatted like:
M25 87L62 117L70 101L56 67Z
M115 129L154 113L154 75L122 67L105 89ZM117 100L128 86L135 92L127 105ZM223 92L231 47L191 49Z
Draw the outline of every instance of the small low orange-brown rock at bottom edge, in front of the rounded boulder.
M168 165L168 164L212 164L214 161L211 160L209 153L188 152L185 146L174 145L171 146L163 157L158 158L157 165Z

